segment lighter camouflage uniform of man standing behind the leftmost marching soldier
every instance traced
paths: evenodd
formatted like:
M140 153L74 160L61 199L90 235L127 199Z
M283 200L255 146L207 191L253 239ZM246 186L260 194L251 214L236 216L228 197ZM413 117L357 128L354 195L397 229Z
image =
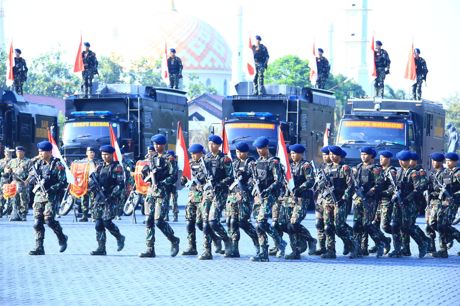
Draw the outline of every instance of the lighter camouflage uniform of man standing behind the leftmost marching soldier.
M19 207L19 213L25 219L25 216L29 212L29 184L24 181L29 176L29 169L32 166L32 162L28 158L23 159L11 159L8 164L11 167L11 184L15 184L16 187L16 206ZM25 221L25 220L24 220Z

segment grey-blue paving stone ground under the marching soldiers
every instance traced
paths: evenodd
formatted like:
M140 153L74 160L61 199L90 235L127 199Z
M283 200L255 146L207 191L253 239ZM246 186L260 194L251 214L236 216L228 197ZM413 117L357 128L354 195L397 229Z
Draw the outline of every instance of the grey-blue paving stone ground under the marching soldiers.
M188 247L186 198L187 191L179 191L179 221L169 222L181 250ZM137 224L126 216L115 221L126 236L121 252L107 233L108 255L90 255L97 248L94 223L72 223L69 213L57 219L69 236L67 250L59 253L57 238L46 227L46 255L31 256L31 214L26 222L0 219L0 305L460 305L457 242L449 258L419 258L412 241L411 257L350 260L341 254L338 239L337 259L304 253L300 261L270 257L270 262L252 262L253 244L242 232L241 258L214 254L213 260L200 261L198 256L171 257L170 243L156 230L156 257L139 258L146 245L144 216L138 210ZM421 216L417 223L424 228ZM313 211L303 224L316 236ZM199 254L202 237L197 230Z

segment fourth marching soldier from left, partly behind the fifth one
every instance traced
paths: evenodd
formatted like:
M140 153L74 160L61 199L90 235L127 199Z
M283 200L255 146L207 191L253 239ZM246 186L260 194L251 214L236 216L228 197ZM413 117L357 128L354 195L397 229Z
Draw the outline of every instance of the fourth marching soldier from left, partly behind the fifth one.
M189 147L190 155L192 160L190 161L190 171L193 171L192 181L189 191L189 199L187 206L185 207L185 228L187 230L187 240L189 241L189 248L185 251L180 252L180 255L198 255L196 249L196 228L195 225L202 231L203 230L203 217L201 215L200 204L203 201L203 185L204 180L201 181L198 178L200 173L201 163L200 159L203 154L203 146L198 143L194 143ZM196 179L194 181L193 179ZM186 176L182 176L180 183L185 186L188 179Z

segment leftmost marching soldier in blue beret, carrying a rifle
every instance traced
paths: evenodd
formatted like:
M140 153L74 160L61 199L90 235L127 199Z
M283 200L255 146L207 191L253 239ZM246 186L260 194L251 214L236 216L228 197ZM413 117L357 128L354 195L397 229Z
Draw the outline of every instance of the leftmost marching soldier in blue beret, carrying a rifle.
M34 231L35 249L29 251L30 255L45 255L43 240L45 239L44 223L56 234L59 241L59 252L67 249L67 235L64 235L59 221L54 219L56 213L57 194L63 187L65 181L65 170L63 164L52 156L51 142L37 143L40 160L32 167L37 170L38 177L31 172L28 181L31 185L39 184L43 179L43 191L39 188L34 198ZM16 151L17 152L17 151Z

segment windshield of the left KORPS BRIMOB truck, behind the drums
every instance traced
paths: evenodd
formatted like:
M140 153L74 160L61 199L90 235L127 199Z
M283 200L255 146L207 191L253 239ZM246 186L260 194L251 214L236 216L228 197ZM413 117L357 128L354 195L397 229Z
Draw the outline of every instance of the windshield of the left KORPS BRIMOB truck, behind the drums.
M105 139L110 137L109 125L112 125L115 136L118 135L118 124L108 121L72 121L64 125L63 142L75 142L86 139Z

